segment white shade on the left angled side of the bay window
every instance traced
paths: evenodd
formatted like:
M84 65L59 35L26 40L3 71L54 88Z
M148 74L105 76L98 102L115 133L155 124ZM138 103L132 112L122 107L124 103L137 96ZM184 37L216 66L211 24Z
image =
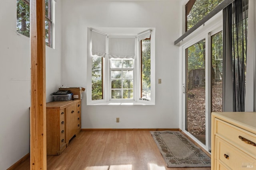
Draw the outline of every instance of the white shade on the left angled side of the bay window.
M106 55L106 35L92 29L92 55L105 57Z

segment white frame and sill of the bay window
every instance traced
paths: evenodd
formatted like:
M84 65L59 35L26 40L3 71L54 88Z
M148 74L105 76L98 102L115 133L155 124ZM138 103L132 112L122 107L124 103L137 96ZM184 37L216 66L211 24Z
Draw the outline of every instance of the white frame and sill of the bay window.
M140 41L136 38L136 57L134 59L134 99L111 99L111 81L110 81L110 59L107 55L103 58L103 99L102 100L92 100L92 53L91 53L91 28L87 29L87 105L155 105L155 28L150 28L150 57L151 57L151 68L150 68L150 92L151 99L140 100ZM113 35L116 36L116 35ZM127 36L127 35L119 35ZM128 35L134 36L134 35ZM136 35L135 35L136 36ZM106 37L107 44L107 37ZM108 45L106 45L106 53L108 54Z

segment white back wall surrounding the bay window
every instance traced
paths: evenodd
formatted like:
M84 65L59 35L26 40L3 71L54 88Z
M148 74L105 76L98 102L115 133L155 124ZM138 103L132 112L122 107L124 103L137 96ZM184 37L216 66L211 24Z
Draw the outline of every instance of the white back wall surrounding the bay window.
M155 106L86 106L82 128L179 127L179 0L62 1L62 84L86 87L87 27L155 27ZM115 123L120 117L120 123Z

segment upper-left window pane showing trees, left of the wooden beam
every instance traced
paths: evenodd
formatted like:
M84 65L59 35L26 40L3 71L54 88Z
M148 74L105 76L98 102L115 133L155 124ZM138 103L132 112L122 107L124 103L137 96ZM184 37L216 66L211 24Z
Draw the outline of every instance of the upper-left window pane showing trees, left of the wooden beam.
M30 36L29 4L22 0L17 0L17 32Z

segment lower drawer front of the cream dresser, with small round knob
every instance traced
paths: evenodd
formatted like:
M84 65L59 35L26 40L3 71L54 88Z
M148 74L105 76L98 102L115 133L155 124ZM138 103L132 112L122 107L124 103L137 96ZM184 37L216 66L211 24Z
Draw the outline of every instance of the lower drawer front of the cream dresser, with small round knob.
M235 148L230 143L227 143L219 137L216 137L215 140L217 153L215 158L220 162L220 164L223 164L232 170L246 168L248 164L254 164L255 159L244 154L242 150ZM223 165L220 166L222 167L221 169L225 169L225 166Z

